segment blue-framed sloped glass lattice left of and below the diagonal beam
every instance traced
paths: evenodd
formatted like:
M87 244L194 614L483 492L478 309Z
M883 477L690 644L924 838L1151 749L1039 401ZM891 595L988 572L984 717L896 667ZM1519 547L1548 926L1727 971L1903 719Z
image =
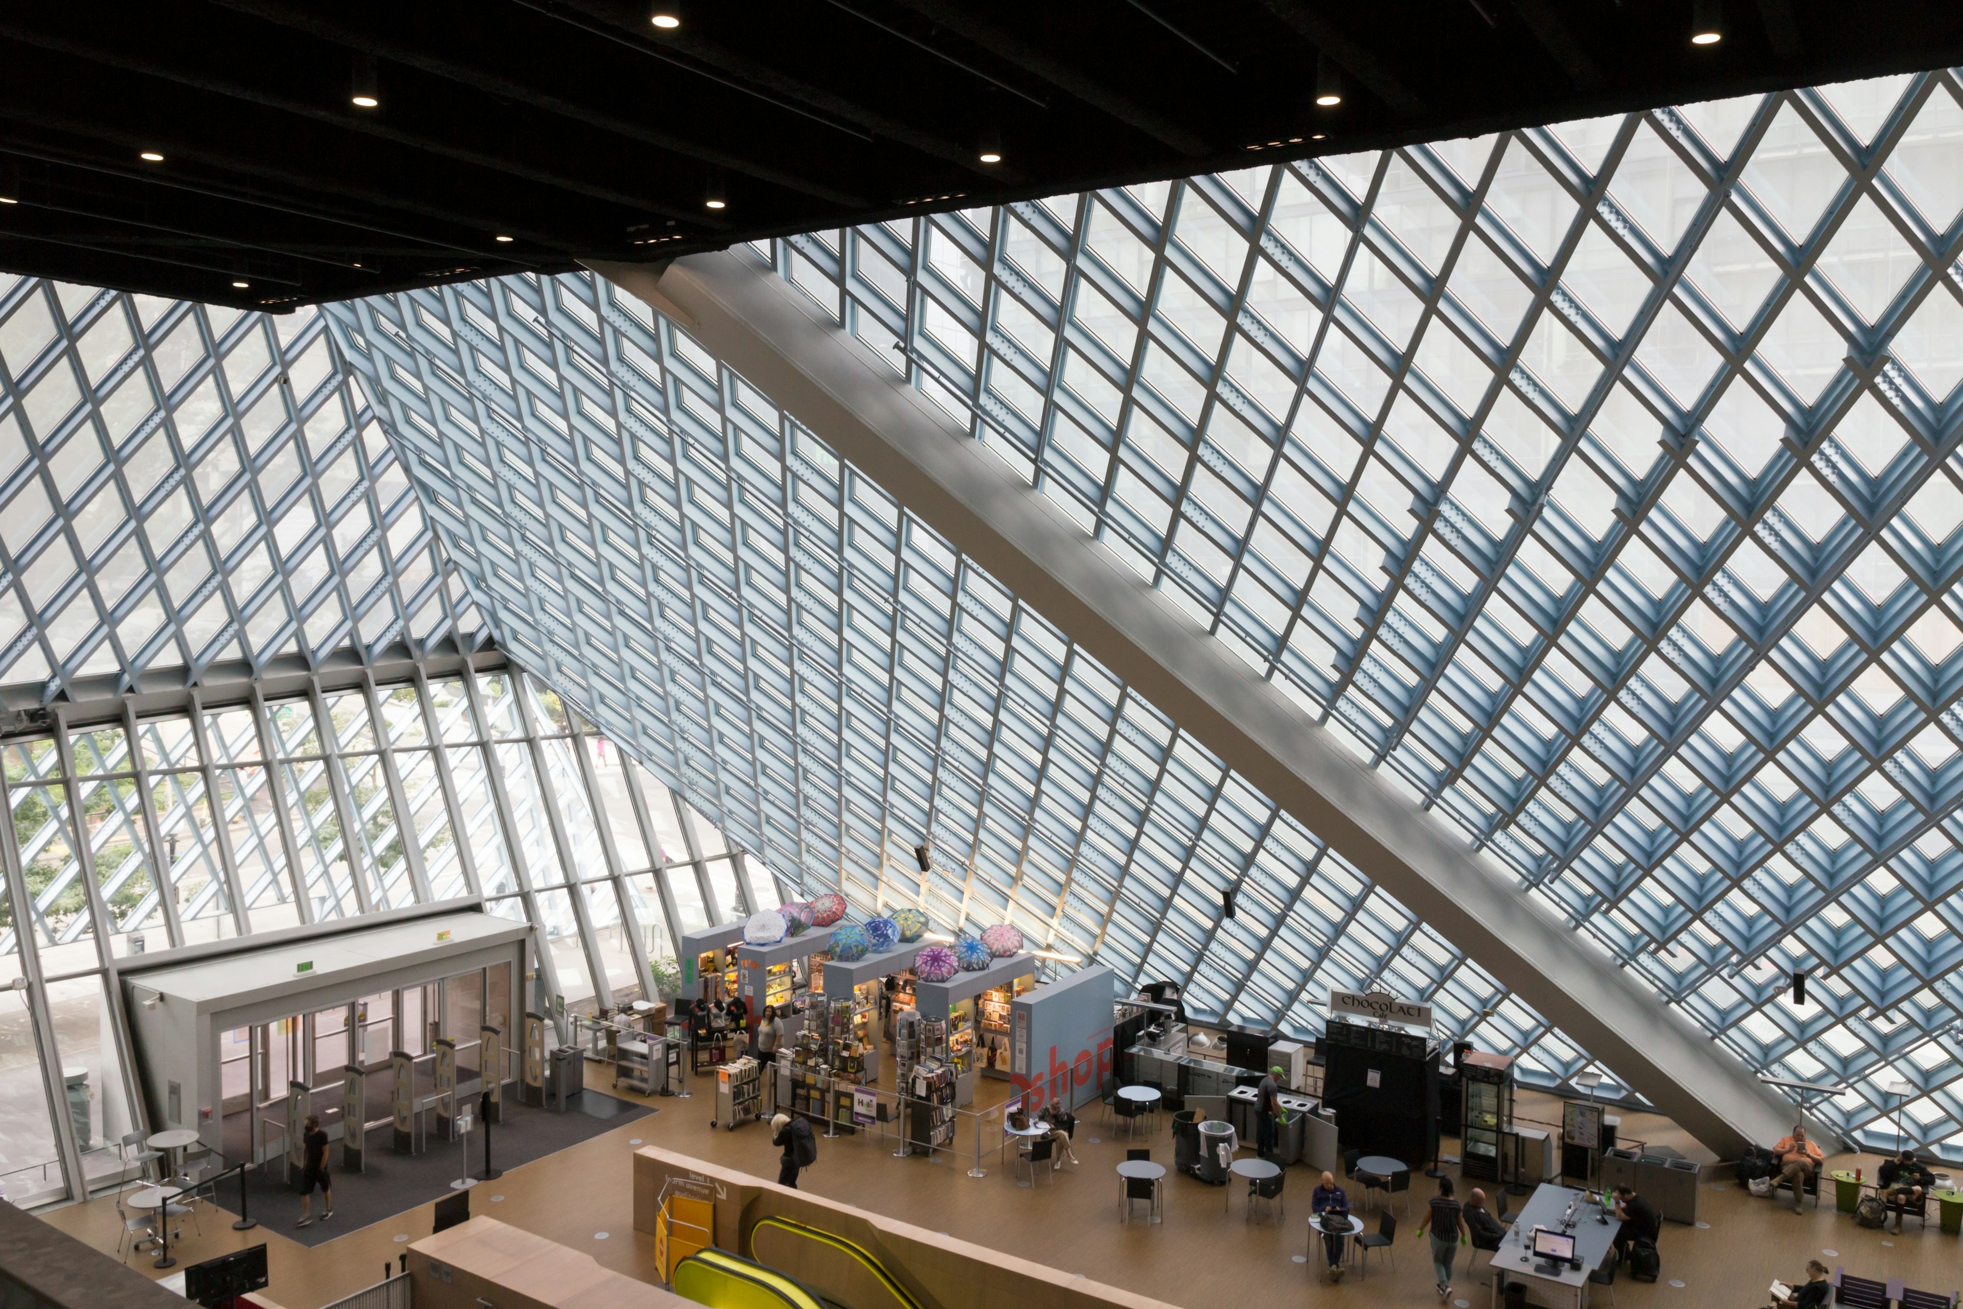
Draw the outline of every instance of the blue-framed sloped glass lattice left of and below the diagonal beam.
M1292 1030L1329 987L1431 995L1543 1083L1586 1066L626 292L514 277L330 314L504 652L783 883L1013 920Z

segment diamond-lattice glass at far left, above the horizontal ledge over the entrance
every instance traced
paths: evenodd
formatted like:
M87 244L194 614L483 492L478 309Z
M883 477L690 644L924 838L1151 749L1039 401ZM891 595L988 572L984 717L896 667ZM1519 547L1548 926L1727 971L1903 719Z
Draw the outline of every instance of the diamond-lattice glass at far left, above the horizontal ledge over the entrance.
M357 404L316 310L0 273L0 685L448 634L442 559Z

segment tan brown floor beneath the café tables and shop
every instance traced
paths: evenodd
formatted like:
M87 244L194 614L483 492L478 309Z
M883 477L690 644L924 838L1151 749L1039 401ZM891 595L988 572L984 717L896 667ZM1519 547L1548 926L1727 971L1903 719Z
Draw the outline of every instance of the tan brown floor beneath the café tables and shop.
M589 1066L589 1085L605 1089L597 1068ZM775 1179L775 1150L768 1125L718 1130L709 1126L713 1081L691 1077L691 1099L652 1099L660 1113L640 1119L583 1144L516 1168L483 1183L473 1209L538 1232L577 1250L587 1250L607 1268L654 1280L654 1240L632 1230L630 1154L638 1142L662 1144L718 1164L746 1168ZM999 1103L1007 1083L982 1079L982 1105ZM624 1095L624 1099L638 1099ZM1523 1093L1519 1113L1547 1119L1559 1113L1549 1097ZM962 1148L970 1148L970 1128L962 1128ZM1690 1158L1708 1160L1682 1132L1661 1119L1627 1115L1623 1136L1672 1144ZM1093 1142L1093 1136L1101 1140ZM819 1142L819 1164L801 1181L805 1189L946 1230L956 1236L1080 1272L1131 1291L1186 1305L1188 1309L1235 1309L1247 1303L1317 1305L1437 1305L1427 1242L1417 1236L1431 1181L1413 1178L1409 1219L1402 1221L1394 1254L1396 1268L1372 1254L1368 1280L1354 1272L1341 1285L1323 1285L1319 1260L1296 1262L1307 1246L1307 1199L1315 1178L1303 1168L1288 1174L1286 1217L1280 1227L1243 1213L1237 1187L1231 1193L1172 1174L1166 1183L1162 1225L1133 1221L1123 1225L1117 1207L1113 1166L1125 1158L1123 1130L1103 1132L1095 1105L1088 1111L1076 1146L1080 1166L1066 1166L1035 1187L1019 1187L1013 1168L993 1154L982 1160L985 1178L970 1178L972 1160L927 1162L893 1158L893 1142L874 1136L840 1136ZM1152 1156L1170 1164L1172 1134L1160 1125L1150 1138ZM1451 1146L1447 1146L1451 1148ZM1853 1156L1835 1158L1839 1166ZM1861 1160L1873 1170L1881 1160ZM342 1187L359 1187L359 1176L338 1178ZM1462 1193L1462 1191L1460 1191ZM1619 1309L1682 1305L1686 1309L1749 1307L1765 1303L1773 1278L1798 1280L1808 1258L1830 1268L1871 1278L1902 1278L1920 1289L1949 1291L1963 1283L1963 1244L1934 1225L1888 1236L1865 1230L1833 1213L1831 1195L1824 1209L1794 1215L1790 1205L1753 1199L1735 1183L1720 1179L1700 1191L1698 1217L1704 1229L1667 1223L1663 1230L1663 1280L1637 1285L1616 1282ZM1376 1227L1376 1215L1364 1215ZM1402 1203L1400 1203L1400 1219ZM116 1209L108 1199L71 1205L47 1215L55 1227L116 1250ZM387 1223L349 1232L308 1250L281 1232L257 1229L234 1232L226 1219L204 1213L202 1234L190 1234L181 1250L194 1262L265 1240L271 1260L269 1293L287 1309L316 1309L379 1280L383 1266L404 1248L402 1238L430 1232L424 1205ZM601 1238L605 1234L605 1238ZM151 1276L147 1258L133 1266ZM1480 1260L1484 1264L1484 1258ZM1671 1285L1680 1282L1682 1285ZM1596 1287L1600 1293L1602 1287ZM1486 1295L1460 1266L1455 1301L1484 1309ZM1608 1303L1598 1297L1596 1303Z

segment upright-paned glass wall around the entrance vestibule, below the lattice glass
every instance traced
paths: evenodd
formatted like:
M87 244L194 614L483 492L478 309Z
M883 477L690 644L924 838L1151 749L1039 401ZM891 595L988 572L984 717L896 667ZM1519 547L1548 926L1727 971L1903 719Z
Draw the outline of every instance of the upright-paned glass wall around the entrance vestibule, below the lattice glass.
M124 1176L141 1119L110 987L128 956L481 893L538 924L538 999L579 1013L671 995L675 936L750 911L742 856L687 803L550 687L477 663L57 714L0 748L0 1195ZM316 1040L345 1062L340 1026Z

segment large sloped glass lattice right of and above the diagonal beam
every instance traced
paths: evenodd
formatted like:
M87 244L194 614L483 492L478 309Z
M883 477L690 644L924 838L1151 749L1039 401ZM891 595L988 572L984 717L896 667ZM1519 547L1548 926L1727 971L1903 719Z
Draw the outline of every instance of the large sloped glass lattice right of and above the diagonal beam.
M1902 1077L1943 1138L1959 100L1879 79L758 253L1747 1064L1851 1083L1851 1125Z

